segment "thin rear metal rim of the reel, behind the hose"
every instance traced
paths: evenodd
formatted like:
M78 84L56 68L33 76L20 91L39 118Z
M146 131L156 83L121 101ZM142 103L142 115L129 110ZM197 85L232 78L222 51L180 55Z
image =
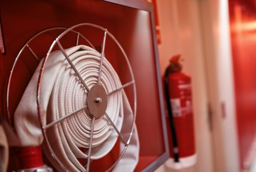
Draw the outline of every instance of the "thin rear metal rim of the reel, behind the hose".
M7 109L7 118L8 118L8 122L10 124L10 126L13 128L13 125L12 125L12 120L11 120L11 117L10 117L10 111L9 111L9 92L10 92L10 83L11 83L11 80L12 80L12 74L13 74L13 70L15 69L16 67L16 63L19 59L19 57L21 56L22 52L25 50L25 48L28 46L28 44L33 41L33 39L35 39L37 36L41 35L41 34L44 34L46 32L49 32L49 31L53 31L53 30L57 30L57 29L62 29L62 30L65 30L65 29L68 29L68 28L65 28L65 27L53 27L53 28L48 28L48 29L44 29L43 31L40 31L38 32L37 34L33 35L25 44L24 46L21 48L21 50L19 51L19 54L17 55L17 57L15 58L15 61L12 65L12 69L10 71L10 75L9 75L9 79L8 79L8 84L7 84L7 92L6 92L6 109ZM74 30L71 30L71 32L74 32L75 34L81 36L86 42L88 42L90 44L90 46L92 46L93 49L95 49L95 47L92 45L92 43L87 39L85 38L82 34L80 34L79 32L77 31L74 31ZM95 49L96 50L96 49Z

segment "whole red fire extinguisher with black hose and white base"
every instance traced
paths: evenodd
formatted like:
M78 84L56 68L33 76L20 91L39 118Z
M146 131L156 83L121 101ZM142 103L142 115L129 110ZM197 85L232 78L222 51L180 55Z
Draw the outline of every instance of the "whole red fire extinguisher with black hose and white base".
M180 54L173 56L164 74L164 90L172 137L170 159L167 160L166 166L173 169L193 166L197 159L191 77L182 72L180 60Z

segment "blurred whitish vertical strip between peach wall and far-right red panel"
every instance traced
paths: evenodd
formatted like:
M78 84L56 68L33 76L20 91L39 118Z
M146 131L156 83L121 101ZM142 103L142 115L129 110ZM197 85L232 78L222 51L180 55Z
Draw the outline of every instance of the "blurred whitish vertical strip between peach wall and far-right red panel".
M238 172L239 154L228 0L201 0L201 20L213 111L216 172ZM222 108L222 104L224 108Z

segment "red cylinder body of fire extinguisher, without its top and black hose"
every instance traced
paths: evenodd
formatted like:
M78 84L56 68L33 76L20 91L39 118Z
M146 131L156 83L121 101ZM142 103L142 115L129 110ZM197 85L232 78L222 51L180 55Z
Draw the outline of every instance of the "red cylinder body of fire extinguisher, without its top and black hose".
M179 157L188 157L195 154L191 77L179 70L170 73L168 79Z

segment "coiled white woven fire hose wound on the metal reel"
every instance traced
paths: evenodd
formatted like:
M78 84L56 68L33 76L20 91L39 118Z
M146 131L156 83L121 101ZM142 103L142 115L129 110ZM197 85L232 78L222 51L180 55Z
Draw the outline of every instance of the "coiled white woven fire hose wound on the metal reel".
M79 45L65 50L80 73L89 89L97 84L101 54L94 49ZM42 61L38 65L22 99L15 111L14 122L16 133L22 146L39 146L43 135L38 121L37 112L37 82ZM104 57L102 64L101 86L107 93L121 86L119 77L111 64ZM41 111L43 123L49 124L59 118L74 112L86 105L87 91L74 73L61 51L52 52L44 68L41 82ZM107 114L118 131L127 140L133 122L133 112L123 90L108 96ZM87 158L87 152L80 148L88 148L92 116L88 109L83 109L75 115L63 120L47 130L47 138L53 151L58 155L61 164L68 171L86 171L77 158ZM91 159L100 159L107 155L117 141L118 134L105 116L95 119L92 140ZM120 141L120 152L125 144ZM46 148L46 146L44 146ZM61 166L50 157L49 150L44 149L50 162L58 171ZM126 153L115 166L114 171L134 171L139 157L139 140L136 126ZM129 168L126 168L126 167Z

